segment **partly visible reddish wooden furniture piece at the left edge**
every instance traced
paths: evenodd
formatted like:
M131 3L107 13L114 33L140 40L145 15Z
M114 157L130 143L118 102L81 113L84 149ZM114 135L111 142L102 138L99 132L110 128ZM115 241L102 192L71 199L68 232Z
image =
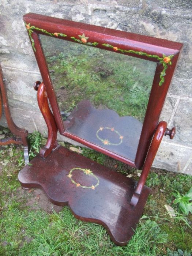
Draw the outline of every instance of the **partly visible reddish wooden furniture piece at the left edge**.
M2 97L2 101L1 101L1 97ZM7 145L7 144L23 144L25 163L28 163L29 162L28 144L27 144L28 131L26 129L17 127L14 121L12 120L10 108L8 105L7 93L6 93L5 85L3 82L3 72L0 65L0 118L2 115L2 102L5 110L5 117L7 120L8 128L12 133L14 133L16 136L19 136L20 138L11 137L7 139L1 139L0 146Z

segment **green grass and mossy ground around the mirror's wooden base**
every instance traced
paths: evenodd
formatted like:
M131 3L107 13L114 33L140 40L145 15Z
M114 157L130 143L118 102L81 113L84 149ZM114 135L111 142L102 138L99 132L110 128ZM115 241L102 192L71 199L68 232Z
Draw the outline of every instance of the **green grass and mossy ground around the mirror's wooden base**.
M38 150L41 136L36 133L30 138L33 149L37 147ZM134 179L138 179L137 170L101 153L83 148L82 154L125 175L131 173ZM153 193L149 196L144 215L128 245L120 247L110 241L102 226L77 220L68 207L63 207L59 213L54 210L49 213L38 206L38 200L33 204L37 208L30 206L33 189L23 191L17 179L22 158L20 147L0 149L0 255L154 256L167 255L168 248L170 251L190 252L192 215L185 217L178 213L179 209L173 204L173 193L175 190L187 192L192 184L191 176L161 170L151 172L147 185ZM169 217L164 204L174 207L175 218Z

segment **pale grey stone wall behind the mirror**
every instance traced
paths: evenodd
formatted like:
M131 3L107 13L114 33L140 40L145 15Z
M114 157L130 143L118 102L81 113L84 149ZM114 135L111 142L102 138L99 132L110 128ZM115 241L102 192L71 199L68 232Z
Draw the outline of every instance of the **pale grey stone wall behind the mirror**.
M191 0L1 0L0 61L12 117L29 132L38 129L46 135L33 89L41 76L22 20L27 12L182 42L160 118L169 128L176 126L177 134L173 140L163 138L153 166L192 174ZM0 124L6 125L5 118Z

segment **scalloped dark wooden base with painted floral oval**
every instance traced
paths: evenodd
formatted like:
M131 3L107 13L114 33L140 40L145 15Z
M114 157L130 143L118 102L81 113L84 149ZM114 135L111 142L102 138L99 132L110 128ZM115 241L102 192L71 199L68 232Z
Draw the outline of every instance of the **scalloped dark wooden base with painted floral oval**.
M52 203L68 205L76 218L103 225L116 245L128 243L150 188L143 188L132 207L133 180L61 146L30 163L18 175L23 187L44 189Z

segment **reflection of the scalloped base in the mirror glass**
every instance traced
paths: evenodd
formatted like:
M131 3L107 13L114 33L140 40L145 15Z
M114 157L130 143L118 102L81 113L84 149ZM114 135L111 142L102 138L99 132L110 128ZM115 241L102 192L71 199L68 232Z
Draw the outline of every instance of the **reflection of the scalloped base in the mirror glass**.
M142 123L136 118L120 117L110 109L96 109L84 100L68 120L64 121L66 132L134 162L142 130Z

